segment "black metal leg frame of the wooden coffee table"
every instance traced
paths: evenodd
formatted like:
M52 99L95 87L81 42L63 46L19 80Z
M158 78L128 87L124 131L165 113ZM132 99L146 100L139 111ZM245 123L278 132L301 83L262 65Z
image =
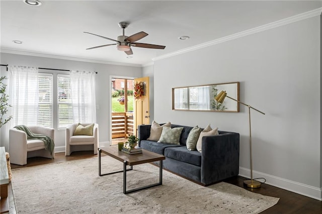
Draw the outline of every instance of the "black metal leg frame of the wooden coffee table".
M102 149L98 148L98 151L99 151L99 176L111 175L111 174L123 172L123 193L124 194L139 191L139 190L142 190L142 189L147 189L147 188L150 188L150 187L153 187L153 186L162 185L163 160L159 160L159 182L158 183L153 183L153 184L150 184L150 185L147 185L147 186L142 186L142 187L138 187L138 188L135 188L135 189L126 190L126 172L130 171L130 170L133 170L133 165L129 165L129 162L124 160L123 161L123 170L102 174L101 173L101 153L102 153ZM129 165L130 168L127 168L126 167L127 165Z

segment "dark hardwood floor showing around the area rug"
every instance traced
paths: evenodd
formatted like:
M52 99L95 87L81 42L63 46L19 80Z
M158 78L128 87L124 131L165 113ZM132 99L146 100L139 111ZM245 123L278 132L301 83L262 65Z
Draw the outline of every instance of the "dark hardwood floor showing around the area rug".
M104 155L104 154L102 154ZM56 153L54 159L47 159L47 158L29 158L28 164L25 166L19 166L15 164L11 164L12 169L22 168L22 167L31 167L31 166L38 166L50 163L58 163L58 162L65 162L71 160L79 160L79 159L87 159L95 157L96 155L93 154L93 151L85 151L85 152L73 152L70 156L65 156L63 152ZM229 178L224 180L224 182L231 183L240 187L244 187L243 181L245 178L236 176L233 178ZM244 187L245 188L245 187ZM278 203L263 211L262 213L295 213L295 214L317 214L322 213L322 202L310 197L306 197L300 194L296 194L294 192L290 192L281 188L277 188L268 184L263 184L261 188L258 189L251 189L246 188L250 191L260 193L263 195L279 197ZM9 196L12 196L12 189L11 185L9 187ZM10 213L16 213L15 204L13 203L13 199L9 201L10 206Z

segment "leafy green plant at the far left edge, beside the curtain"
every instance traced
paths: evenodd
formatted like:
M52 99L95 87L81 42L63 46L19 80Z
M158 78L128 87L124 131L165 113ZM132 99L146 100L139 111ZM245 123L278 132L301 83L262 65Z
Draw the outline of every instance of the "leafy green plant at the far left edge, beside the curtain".
M5 79L7 79L6 76L0 77L0 128L12 119L12 116L4 119L8 112L8 108L11 107L11 105L8 104L9 95L6 94L7 84L4 83Z

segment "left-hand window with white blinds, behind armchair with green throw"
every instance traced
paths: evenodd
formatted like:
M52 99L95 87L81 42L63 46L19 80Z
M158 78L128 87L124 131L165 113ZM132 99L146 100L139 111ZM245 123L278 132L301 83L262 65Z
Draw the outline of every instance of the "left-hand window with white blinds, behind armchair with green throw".
M52 125L52 74L38 75L38 121L37 125L53 127Z

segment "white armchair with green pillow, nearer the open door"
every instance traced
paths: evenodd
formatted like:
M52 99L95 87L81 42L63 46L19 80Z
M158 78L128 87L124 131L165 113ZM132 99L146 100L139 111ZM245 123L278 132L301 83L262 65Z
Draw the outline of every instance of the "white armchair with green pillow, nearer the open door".
M93 150L96 155L99 142L99 125L94 124L93 136L73 135L77 125L78 123L75 123L66 127L65 156L69 156L75 151L90 150ZM88 126L90 123L82 123L82 125Z

